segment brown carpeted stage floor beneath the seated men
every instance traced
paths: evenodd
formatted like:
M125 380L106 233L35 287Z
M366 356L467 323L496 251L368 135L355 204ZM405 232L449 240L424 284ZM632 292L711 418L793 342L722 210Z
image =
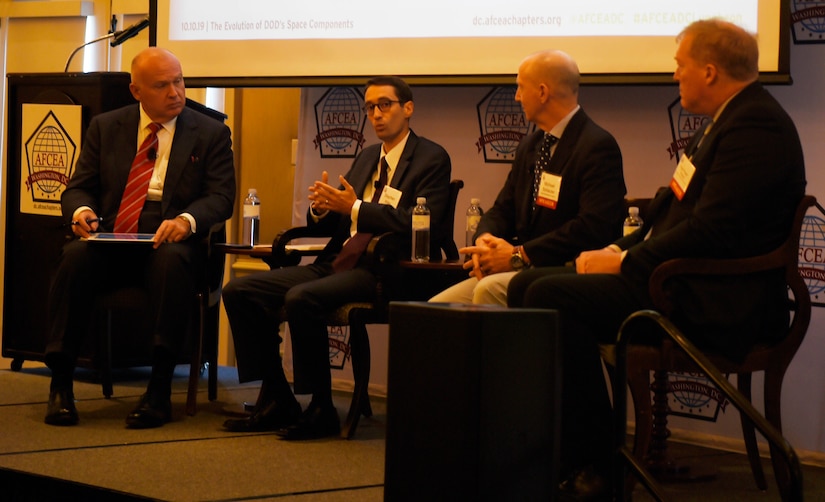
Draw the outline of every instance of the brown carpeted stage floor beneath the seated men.
M149 368L115 372L114 396L105 399L93 372L79 370L75 397L80 424L43 423L49 373L26 362L9 370L0 359L0 500L383 500L386 411L373 399L374 415L361 419L355 437L301 443L273 433L223 430L228 416L254 401L257 384L240 385L234 368L219 368L218 400L206 399L201 382L198 413L184 413L188 366L173 387L173 421L149 430L125 428L124 419L143 393ZM336 395L342 419L349 395ZM305 401L302 404L306 405ZM754 485L744 456L671 443L674 458L710 465L714 481L666 485L669 499L714 502L779 500L770 462L769 489ZM825 500L825 469L805 467L806 500ZM423 483L426 480L422 480ZM637 487L634 500L651 500Z

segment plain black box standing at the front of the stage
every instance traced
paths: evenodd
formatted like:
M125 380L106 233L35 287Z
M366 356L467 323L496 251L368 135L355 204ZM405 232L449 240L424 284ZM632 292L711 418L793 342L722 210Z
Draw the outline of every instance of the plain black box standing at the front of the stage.
M553 500L558 313L390 304L385 500Z

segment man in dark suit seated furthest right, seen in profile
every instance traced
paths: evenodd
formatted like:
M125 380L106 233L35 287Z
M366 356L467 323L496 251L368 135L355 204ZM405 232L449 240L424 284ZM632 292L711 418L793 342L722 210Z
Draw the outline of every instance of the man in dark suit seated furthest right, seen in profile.
M796 128L757 82L754 36L706 20L689 25L678 41L674 79L682 107L711 120L687 145L644 226L582 253L575 274L538 269L510 284L511 305L561 312L562 467L570 475L562 488L584 498L605 494L613 445L597 344L615 342L628 315L652 308L648 278L660 263L742 258L779 246L805 191ZM700 347L741 358L786 325L786 301L781 271L734 281L688 280L677 292L674 321ZM588 462L593 464L585 468Z

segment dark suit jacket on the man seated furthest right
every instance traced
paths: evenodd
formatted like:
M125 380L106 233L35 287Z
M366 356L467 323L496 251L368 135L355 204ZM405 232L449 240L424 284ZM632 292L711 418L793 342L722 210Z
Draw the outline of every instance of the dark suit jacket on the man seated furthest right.
M699 131L686 151L696 149ZM696 172L683 199L663 190L643 227L616 242L622 274L646 294L653 269L679 257L741 258L769 252L788 235L805 192L796 127L759 83L735 96L693 154ZM648 231L651 237L644 240ZM682 279L671 285L674 321L695 341L739 357L787 323L780 273L733 279ZM736 327L736 328L734 328Z

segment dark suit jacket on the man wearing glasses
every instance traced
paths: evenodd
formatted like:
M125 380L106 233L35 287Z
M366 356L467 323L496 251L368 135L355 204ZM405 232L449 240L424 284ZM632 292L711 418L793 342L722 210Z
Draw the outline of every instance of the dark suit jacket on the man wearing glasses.
M358 231L372 234L395 232L409 240L415 200L417 197L426 197L430 209L430 256L441 256L440 246L443 240L453 238L452 235L446 235L445 231L447 218L453 217L452 214L447 214L452 169L447 151L410 131L390 181L390 186L402 193L395 208L363 200L364 189L378 169L380 156L381 144L365 148L344 176L363 201L358 213ZM316 226L332 236L316 260L320 262L332 260L341 250L350 236L351 219L349 215L330 212L316 222L307 212L307 225Z

